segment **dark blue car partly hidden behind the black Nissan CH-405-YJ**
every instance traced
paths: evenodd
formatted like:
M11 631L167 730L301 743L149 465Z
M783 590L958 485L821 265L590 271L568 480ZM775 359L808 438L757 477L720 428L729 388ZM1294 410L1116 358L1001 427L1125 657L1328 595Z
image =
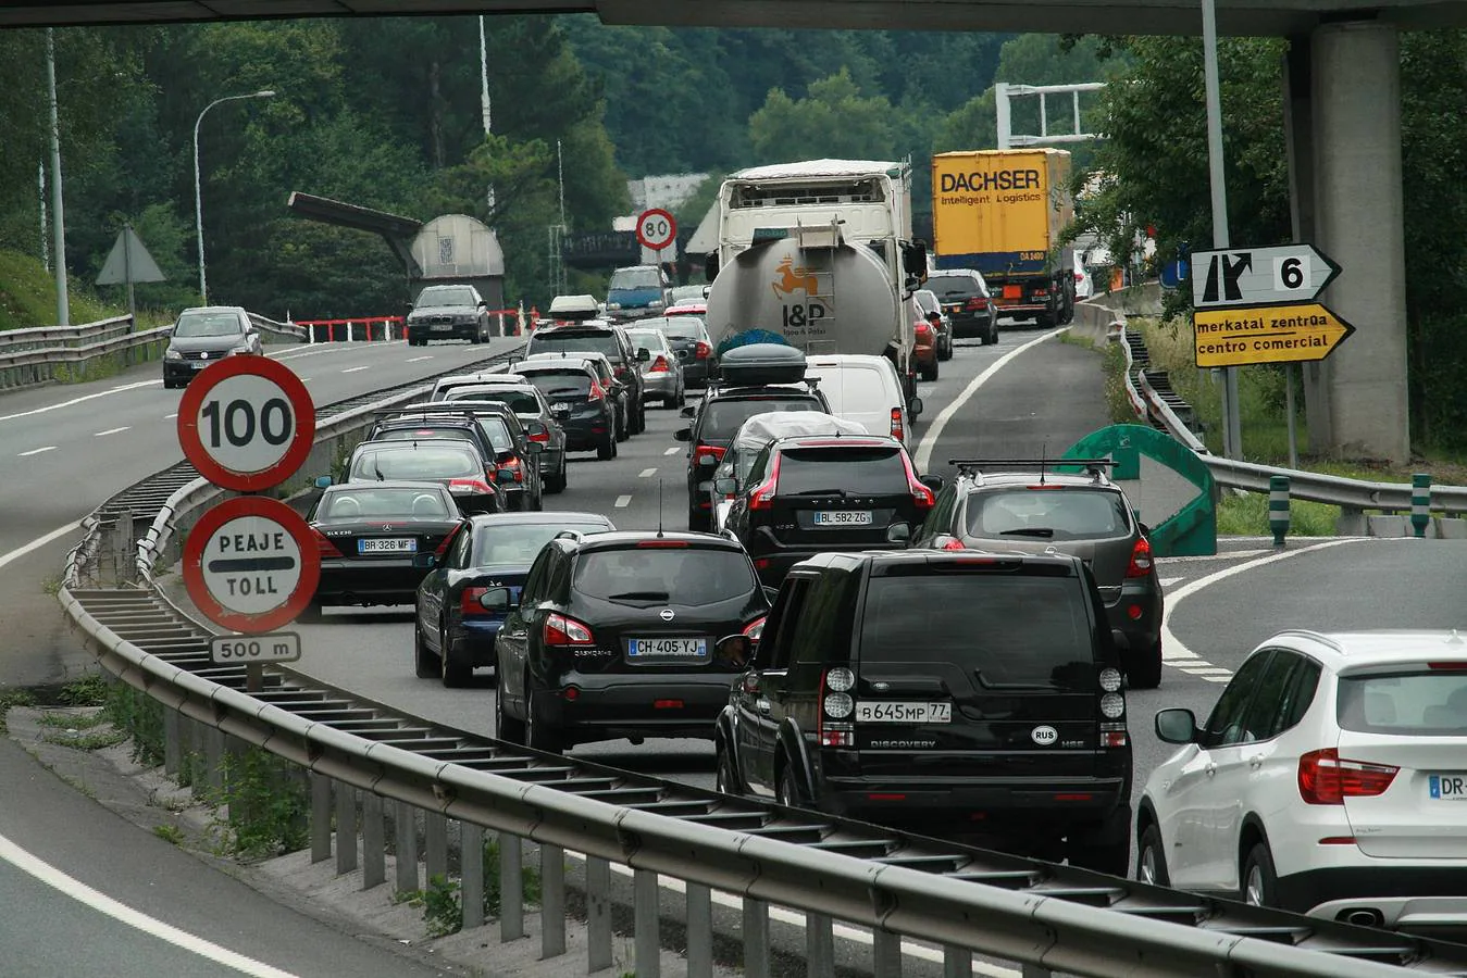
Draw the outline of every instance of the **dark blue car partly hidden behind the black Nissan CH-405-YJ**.
M422 579L412 628L412 663L420 679L467 686L474 669L494 664L502 611L480 598L509 588L515 600L540 548L557 535L616 529L599 513L493 513L464 521L443 560Z

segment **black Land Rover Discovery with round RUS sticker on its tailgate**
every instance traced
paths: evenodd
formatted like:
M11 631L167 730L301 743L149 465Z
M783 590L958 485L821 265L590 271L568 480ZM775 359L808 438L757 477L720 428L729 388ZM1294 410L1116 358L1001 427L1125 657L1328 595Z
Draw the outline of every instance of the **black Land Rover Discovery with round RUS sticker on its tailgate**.
M1127 872L1125 694L1077 557L820 554L716 654L748 661L719 790Z

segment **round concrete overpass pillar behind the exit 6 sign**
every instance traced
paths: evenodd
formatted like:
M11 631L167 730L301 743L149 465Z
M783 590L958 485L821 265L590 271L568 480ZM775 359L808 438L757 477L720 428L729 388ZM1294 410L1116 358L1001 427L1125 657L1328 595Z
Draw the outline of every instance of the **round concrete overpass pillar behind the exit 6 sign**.
M1375 21L1314 31L1316 243L1344 273L1325 304L1356 334L1323 362L1329 447L1345 457L1410 457L1405 239L1401 208L1401 53Z

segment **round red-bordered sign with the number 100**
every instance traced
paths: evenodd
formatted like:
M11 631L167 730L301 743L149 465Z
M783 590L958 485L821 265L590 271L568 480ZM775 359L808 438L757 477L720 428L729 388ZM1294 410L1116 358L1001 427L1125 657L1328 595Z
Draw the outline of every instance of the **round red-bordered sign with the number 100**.
M295 372L239 355L204 368L179 402L183 457L214 485L258 493L290 478L315 438L315 406Z

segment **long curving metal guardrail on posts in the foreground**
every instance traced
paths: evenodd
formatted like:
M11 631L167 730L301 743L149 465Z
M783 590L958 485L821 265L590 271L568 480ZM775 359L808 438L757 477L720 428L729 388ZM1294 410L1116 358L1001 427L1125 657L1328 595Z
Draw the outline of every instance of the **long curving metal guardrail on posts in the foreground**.
M396 394L417 396L417 390ZM351 405L358 416L373 409L361 400ZM336 412L320 430L330 435L351 413ZM82 565L104 553L97 541L109 515L113 528L122 525L120 535L131 538L133 522L156 507L147 550L151 556L167 547L167 534L186 519L185 507L205 499L188 475L186 466L175 466L163 485L141 482L100 507L72 553L62 591L67 616L101 664L164 704L175 764L179 738L188 732L202 742L214 771L226 736L307 768L312 858L332 856L334 814L337 871L355 869L361 826L367 886L384 881L383 799L396 804L399 889L415 889L418 880L418 814L430 872L434 862L446 871L446 820L456 820L469 925L481 922L469 913L477 906L471 878L477 874L483 886L481 830L499 831L503 940L524 935L522 896L515 896L522 846L538 845L544 956L565 953L563 852L572 850L588 856L593 971L612 963L609 864L632 869L640 978L659 974L659 877L688 884L691 975L711 974L711 890L742 897L750 975L769 974L770 905L805 912L810 971L819 975L835 971L833 919L871 928L877 975L901 974L902 937L940 946L951 975L971 974L974 953L1021 962L1034 978L1047 969L1127 978L1386 978L1402 969L1467 975L1467 949L1458 946L1197 897L544 755L393 714L289 670L271 670L263 692L244 695L244 669L211 666L208 630L164 595L153 588L82 587Z

